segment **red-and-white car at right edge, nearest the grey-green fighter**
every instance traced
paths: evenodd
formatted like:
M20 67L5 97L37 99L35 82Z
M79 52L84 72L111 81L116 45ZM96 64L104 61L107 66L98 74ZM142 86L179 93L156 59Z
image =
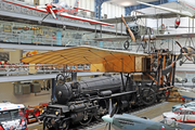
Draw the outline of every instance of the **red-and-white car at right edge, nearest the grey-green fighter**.
M179 122L195 122L195 112L190 108L178 108L174 112L164 113L162 116Z

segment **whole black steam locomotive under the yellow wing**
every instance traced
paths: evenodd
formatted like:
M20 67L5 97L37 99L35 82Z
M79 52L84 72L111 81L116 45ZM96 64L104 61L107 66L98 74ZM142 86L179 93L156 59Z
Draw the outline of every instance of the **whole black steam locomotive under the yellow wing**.
M43 114L43 130L67 130L70 123L77 122L87 126L93 117L100 120L108 113L109 99L113 105L117 103L116 113L130 108L132 104L148 105L156 101L153 89L140 88L129 75L106 75L72 82L65 82L65 78L63 74L56 77L56 100L48 105ZM148 93L150 96L144 96L143 93Z

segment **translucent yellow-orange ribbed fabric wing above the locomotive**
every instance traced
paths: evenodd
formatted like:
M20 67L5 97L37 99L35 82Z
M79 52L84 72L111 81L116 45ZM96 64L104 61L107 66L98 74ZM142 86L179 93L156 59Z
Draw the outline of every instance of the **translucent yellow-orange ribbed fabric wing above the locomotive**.
M148 55L93 47L74 47L24 57L21 61L24 63L63 64L68 66L91 64L91 72L131 73L135 70L135 57L138 56Z

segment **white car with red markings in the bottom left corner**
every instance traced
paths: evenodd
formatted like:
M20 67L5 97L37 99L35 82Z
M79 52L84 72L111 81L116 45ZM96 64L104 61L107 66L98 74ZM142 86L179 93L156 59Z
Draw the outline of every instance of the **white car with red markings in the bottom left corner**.
M0 103L0 130L27 130L23 104Z

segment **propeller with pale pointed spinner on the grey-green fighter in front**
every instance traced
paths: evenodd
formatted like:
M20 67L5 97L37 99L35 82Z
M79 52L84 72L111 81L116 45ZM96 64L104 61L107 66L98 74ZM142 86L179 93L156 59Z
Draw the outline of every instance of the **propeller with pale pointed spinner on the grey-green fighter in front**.
M106 127L108 125L108 130L110 130L110 123L113 122L113 118L112 117L115 115L116 107L117 107L117 103L114 104L114 108L113 108L112 107L112 99L109 99L108 115L102 117L102 119L107 122L106 126L105 126L105 129L106 129Z

